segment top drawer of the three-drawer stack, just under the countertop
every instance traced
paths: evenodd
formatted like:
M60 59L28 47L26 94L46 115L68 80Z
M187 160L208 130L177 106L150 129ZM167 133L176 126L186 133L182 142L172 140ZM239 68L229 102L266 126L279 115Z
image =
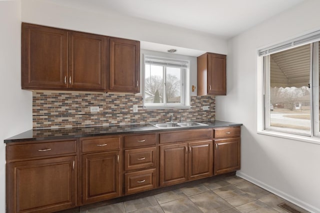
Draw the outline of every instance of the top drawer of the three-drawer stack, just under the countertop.
M156 135L130 135L124 136L124 147L138 147L156 144Z

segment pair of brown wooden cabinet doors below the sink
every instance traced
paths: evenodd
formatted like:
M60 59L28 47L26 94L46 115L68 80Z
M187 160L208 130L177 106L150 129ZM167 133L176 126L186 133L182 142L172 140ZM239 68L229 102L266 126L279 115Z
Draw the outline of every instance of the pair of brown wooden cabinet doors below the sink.
M212 140L163 145L159 148L161 187L212 176Z

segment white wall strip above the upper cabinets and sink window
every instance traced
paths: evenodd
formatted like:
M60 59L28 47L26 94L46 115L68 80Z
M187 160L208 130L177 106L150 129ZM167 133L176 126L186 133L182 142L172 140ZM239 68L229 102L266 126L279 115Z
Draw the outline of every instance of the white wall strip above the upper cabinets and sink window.
M58 5L54 0L23 0L22 21L226 54L226 41L210 34L127 17L112 11L92 11L76 3L71 6Z

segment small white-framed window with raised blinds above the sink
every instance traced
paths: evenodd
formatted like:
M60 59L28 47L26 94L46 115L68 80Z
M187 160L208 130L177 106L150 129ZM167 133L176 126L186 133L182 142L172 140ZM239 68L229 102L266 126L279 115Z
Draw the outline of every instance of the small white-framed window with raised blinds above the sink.
M154 56L143 57L143 105L146 108L189 107L189 62Z

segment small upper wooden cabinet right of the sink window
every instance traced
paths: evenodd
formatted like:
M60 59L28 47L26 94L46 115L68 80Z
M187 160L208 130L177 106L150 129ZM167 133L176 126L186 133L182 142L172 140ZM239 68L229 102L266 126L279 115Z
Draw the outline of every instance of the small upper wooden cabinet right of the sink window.
M226 95L226 55L197 57L197 95Z

